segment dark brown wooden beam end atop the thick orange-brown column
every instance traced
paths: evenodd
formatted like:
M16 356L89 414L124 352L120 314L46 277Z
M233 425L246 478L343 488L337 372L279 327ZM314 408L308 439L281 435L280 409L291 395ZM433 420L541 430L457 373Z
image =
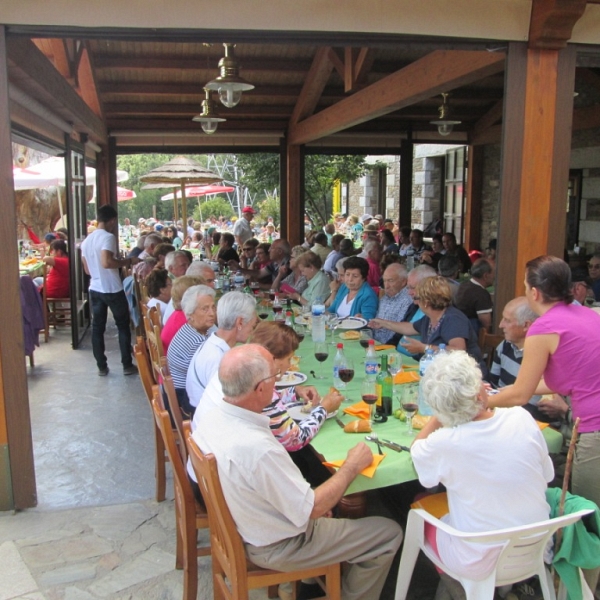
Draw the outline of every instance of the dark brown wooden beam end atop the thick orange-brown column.
M529 21L529 48L561 50L583 16L587 0L533 0Z

